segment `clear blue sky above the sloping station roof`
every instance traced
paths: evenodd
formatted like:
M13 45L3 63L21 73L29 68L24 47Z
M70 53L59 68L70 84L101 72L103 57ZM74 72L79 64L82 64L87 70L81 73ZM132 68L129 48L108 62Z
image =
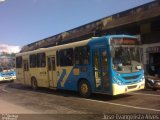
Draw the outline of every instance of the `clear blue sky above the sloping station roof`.
M151 1L0 0L0 44L22 47Z

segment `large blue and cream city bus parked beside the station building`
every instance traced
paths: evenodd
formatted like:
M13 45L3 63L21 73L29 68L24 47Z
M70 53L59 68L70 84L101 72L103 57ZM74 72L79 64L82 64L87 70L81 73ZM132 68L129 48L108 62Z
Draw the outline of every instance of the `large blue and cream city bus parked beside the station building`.
M136 37L106 35L16 55L17 83L119 95L144 89L142 50Z

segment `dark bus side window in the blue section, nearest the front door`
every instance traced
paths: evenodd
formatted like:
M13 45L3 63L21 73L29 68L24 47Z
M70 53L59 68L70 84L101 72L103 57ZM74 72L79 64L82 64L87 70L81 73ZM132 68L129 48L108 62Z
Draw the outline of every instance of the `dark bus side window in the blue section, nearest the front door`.
M87 65L89 64L89 47L80 46L75 48L75 64Z

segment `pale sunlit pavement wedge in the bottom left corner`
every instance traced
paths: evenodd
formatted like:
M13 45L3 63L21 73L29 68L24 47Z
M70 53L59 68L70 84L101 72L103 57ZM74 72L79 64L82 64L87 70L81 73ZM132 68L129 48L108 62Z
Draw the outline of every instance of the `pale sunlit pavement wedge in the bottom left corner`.
M0 114L35 114L36 112L24 107L0 100Z

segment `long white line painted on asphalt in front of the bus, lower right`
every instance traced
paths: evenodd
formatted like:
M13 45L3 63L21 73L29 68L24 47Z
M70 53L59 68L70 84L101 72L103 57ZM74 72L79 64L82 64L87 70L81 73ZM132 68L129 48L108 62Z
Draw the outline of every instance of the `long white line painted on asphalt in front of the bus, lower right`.
M136 107L136 106L131 106L131 105L124 105L124 104L118 104L118 103L112 103L112 102L106 102L106 101L99 101L99 100L91 100L91 99L84 99L84 100L92 101L92 102L99 102L99 103L107 103L107 104L110 104L110 105L116 105L116 106L122 106L122 107L134 108L134 109L141 109L141 110L149 110L149 111L160 112L160 110L158 110L158 109Z

